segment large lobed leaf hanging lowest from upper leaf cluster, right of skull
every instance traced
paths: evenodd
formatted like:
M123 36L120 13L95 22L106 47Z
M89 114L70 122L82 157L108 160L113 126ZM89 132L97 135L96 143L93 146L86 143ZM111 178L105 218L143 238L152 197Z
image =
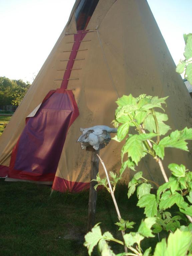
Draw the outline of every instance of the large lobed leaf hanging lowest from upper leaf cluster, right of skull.
M143 142L139 139L139 135L135 134L129 137L122 148L122 159L125 153L131 157L132 161L138 165L140 159L146 155L144 152Z

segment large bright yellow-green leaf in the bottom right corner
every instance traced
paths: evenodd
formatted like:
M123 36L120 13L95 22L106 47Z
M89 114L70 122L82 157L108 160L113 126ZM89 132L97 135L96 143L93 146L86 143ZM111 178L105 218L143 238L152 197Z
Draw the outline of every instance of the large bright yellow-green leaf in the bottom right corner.
M165 256L185 256L192 243L192 234L177 229L170 234L167 241Z

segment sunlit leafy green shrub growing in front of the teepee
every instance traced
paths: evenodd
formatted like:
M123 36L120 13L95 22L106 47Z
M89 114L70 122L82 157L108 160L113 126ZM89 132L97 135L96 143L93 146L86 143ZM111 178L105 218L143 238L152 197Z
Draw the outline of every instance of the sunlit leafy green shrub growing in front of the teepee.
M159 186L156 182L144 178L142 172L137 172L128 184L128 198L137 191L137 206L144 208L146 219L142 220L137 232L125 234L127 228L132 228L134 223L124 220L118 215L119 222L115 224L122 231L123 241L115 239L107 232L102 235L100 227L96 225L85 236L84 245L87 246L89 255L91 255L92 249L97 243L99 244L98 248L101 255L115 255L108 245L108 241L113 241L128 248L128 250L127 248L125 249L125 253L118 254L119 256L149 256L151 255L151 248L143 252L140 242L145 237L154 237L153 233L161 232L161 230L166 230L171 234L167 243L164 239L156 245L154 256L187 255L187 253L192 253L191 226L180 225L180 220L184 220L187 223L189 221L192 222L192 172L182 164L171 163L168 166L171 171L171 176L168 179L162 163L168 147L188 151L187 140L192 139L192 129L186 127L183 130L176 130L165 136L171 129L166 124L168 116L164 113L166 99L167 97L158 98L157 96L151 97L145 94L135 98L130 94L129 96L124 95L117 100L118 108L113 123L115 127L118 127L118 131L114 139L118 142L125 139L125 144L121 150L122 167L119 175L110 173L110 181L106 167L100 158L105 169L106 178L100 179L98 175L96 179L98 184L96 186L103 185L114 197L115 186L126 168L128 167L135 171L139 161L147 154L151 155L159 164L165 183ZM158 188L156 195L150 193L154 185ZM117 204L115 199L114 203ZM180 212L172 217L167 209L174 204L178 206ZM96 235L95 230L99 232L99 236ZM175 233L173 234L173 232ZM185 237L187 237L185 242L178 242L178 246L173 250L172 241L174 239L183 241ZM159 254L160 251L162 251L161 254ZM175 251L175 254L172 251Z

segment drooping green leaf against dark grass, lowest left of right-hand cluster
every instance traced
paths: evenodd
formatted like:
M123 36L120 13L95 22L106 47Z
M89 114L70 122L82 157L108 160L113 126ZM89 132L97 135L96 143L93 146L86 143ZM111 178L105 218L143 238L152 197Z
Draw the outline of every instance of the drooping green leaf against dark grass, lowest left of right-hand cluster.
M157 215L157 201L155 195L148 194L142 196L139 199L137 206L140 208L145 207L144 213L147 217L154 217Z

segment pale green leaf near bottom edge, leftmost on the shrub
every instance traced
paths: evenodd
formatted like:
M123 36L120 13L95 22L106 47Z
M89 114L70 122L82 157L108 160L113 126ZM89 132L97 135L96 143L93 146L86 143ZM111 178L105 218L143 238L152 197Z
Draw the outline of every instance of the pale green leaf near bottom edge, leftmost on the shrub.
M88 254L91 255L93 248L95 247L95 245L97 245L97 243L99 242L100 239L103 238L102 234L101 234L101 229L98 226L98 224L96 224L90 232L88 232L85 235L85 242L84 242L84 246L87 247L88 249Z

